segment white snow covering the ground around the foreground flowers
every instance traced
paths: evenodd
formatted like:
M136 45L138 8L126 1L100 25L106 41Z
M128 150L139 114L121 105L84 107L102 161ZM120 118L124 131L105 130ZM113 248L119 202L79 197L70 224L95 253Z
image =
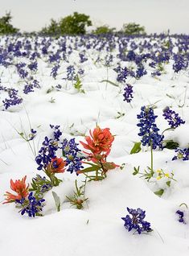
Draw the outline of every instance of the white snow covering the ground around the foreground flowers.
M175 47L174 51L177 51ZM72 53L71 63L76 62ZM64 66L62 67L64 70ZM59 76L53 80L49 76L51 68L43 60L39 60L39 79L42 89L24 96L24 103L0 112L0 201L10 191L10 179L22 179L27 175L27 183L35 177L37 165L34 151L38 151L43 138L51 134L49 124L60 125L64 138L76 137L76 142L84 141L82 134L89 134L98 124L101 128L109 127L115 140L109 160L117 164L125 163L120 170L116 168L108 172L102 181L92 181L86 185L85 196L88 203L79 210L68 203L66 196L72 195L76 179L84 179L82 175L64 173L58 177L63 179L59 187L52 188L45 195L46 206L43 217L29 218L18 214L14 204L0 204L0 254L3 256L27 254L27 256L139 256L139 255L179 255L189 254L188 224L179 223L175 214L179 204L188 204L189 174L188 163L182 159L172 161L174 151L165 149L154 151L154 170L163 169L174 172L171 187L166 186L166 178L162 180L146 180L133 175L134 167L140 166L143 172L150 166L150 151L142 148L138 154L129 155L138 137L137 114L142 105L154 104L154 113L158 115L157 125L161 132L168 125L162 117L162 109L171 106L186 123L174 131L166 131L165 137L179 142L180 147L189 146L189 95L185 98L189 80L185 72L174 79L171 64L167 64L167 72L159 80L150 75L132 82L134 100L131 105L123 101L123 86L113 86L101 82L107 79L106 68L97 67L92 60L84 64L86 74L82 79L85 93L78 93L72 84L63 81ZM14 76L2 70L2 84L18 82ZM115 81L116 75L109 68L109 81ZM60 91L47 89L61 84ZM173 87L174 86L174 87ZM168 96L167 96L168 94ZM51 103L51 98L55 103ZM182 105L182 107L179 107ZM117 113L125 114L117 118ZM18 133L30 133L31 127L38 130L31 147ZM80 147L81 148L81 147ZM147 151L148 150L148 151ZM154 194L164 188L162 197ZM61 211L56 212L51 192L60 196ZM127 214L126 208L146 210L146 221L150 221L154 229L149 234L132 234L124 228L121 217ZM182 206L182 209L184 206ZM188 214L188 213L186 213ZM189 217L189 216L188 216Z

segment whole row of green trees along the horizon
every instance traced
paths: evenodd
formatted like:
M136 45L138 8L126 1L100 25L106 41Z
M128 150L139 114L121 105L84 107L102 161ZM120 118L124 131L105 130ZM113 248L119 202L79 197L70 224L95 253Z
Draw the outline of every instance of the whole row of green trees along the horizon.
M0 18L0 35L16 34L19 29L11 24L12 16L10 12ZM33 32L41 35L85 35L87 27L92 26L90 17L86 14L74 12L60 20L51 19L48 26L43 27L41 31ZM145 35L145 27L137 23L125 23L120 31L115 27L103 25L89 32L94 35L107 35L121 33L125 35Z

